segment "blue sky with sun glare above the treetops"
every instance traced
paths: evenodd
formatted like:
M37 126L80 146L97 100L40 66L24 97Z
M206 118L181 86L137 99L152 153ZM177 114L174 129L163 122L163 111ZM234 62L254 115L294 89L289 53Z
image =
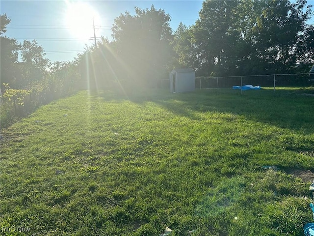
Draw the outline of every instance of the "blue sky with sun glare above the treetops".
M16 38L19 42L24 39L35 39L42 45L46 57L53 61L73 60L79 52L84 50L84 45L94 43L93 17L89 19L85 39L78 35L70 26L69 15L78 2L84 2L84 12L93 11L95 18L96 36L105 36L111 39L111 27L114 19L121 13L129 11L134 15L134 7L163 9L171 16L170 26L175 31L180 22L190 26L199 17L202 0L1 0L0 13L6 13L11 19L7 26L7 37ZM314 5L314 0L308 0ZM75 11L79 12L79 10ZM74 13L75 14L75 13ZM85 14L85 13L80 13ZM77 16L78 17L78 16ZM312 18L312 22L313 22ZM96 22L97 21L97 22ZM81 24L81 23L80 23ZM89 31L90 30L90 31ZM87 33L86 33L87 32Z

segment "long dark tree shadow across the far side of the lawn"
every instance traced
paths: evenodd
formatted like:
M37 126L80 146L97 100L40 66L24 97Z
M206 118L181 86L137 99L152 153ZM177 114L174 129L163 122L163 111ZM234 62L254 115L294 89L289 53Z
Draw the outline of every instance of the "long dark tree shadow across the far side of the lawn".
M177 94L161 89L139 89L130 94L102 91L91 95L105 101L129 100L138 104L150 101L173 114L191 119L197 119L197 113L232 113L280 128L314 132L314 97L298 95L300 91L280 89L273 96L272 89L248 90L242 94L233 89Z

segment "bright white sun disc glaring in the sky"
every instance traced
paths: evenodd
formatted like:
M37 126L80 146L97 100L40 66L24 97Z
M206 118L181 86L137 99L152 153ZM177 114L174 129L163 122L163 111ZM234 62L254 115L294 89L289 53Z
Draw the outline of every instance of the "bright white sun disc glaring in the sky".
M67 5L66 25L73 37L88 40L94 36L93 24L99 25L99 14L86 2L72 2Z

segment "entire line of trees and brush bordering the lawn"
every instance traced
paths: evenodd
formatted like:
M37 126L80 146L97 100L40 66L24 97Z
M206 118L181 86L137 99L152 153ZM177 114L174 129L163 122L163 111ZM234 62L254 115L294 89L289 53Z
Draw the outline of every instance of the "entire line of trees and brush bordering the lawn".
M193 68L199 76L308 72L312 16L306 0L205 0L194 25L180 23L173 31L164 10L135 7L135 15L114 20L112 41L102 37L73 61L52 63L35 40L21 44L2 36L10 23L3 14L1 111L10 112L1 112L1 125L76 89L156 87L175 67Z

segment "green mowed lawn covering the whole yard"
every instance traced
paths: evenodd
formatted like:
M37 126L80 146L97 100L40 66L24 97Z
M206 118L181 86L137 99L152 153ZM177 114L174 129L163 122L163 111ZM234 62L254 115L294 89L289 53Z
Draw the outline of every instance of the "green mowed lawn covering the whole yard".
M313 97L80 91L1 135L1 235L297 236L313 221L291 172L314 172Z

